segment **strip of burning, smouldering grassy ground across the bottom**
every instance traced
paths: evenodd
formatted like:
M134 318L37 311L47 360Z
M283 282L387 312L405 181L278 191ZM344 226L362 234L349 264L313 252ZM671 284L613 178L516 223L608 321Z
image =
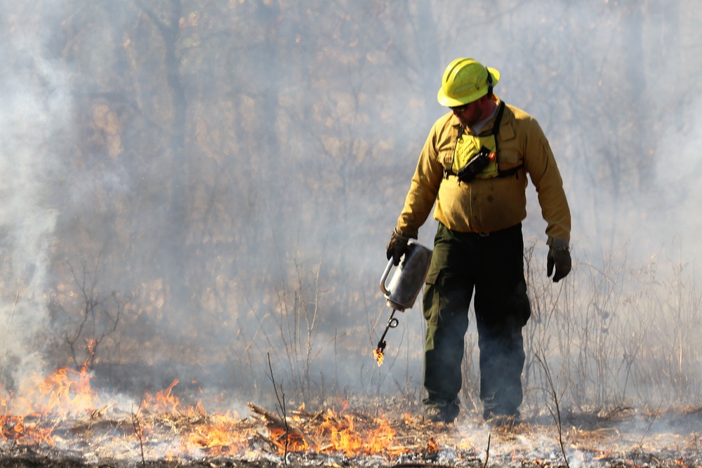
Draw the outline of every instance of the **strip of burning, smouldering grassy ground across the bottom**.
M178 380L124 410L102 404L86 370L32 384L21 397L0 392L3 466L702 467L700 408L564 413L566 462L548 417L498 427L462 414L446 425L343 401L286 414L254 403L248 415L211 413L201 402L183 404Z

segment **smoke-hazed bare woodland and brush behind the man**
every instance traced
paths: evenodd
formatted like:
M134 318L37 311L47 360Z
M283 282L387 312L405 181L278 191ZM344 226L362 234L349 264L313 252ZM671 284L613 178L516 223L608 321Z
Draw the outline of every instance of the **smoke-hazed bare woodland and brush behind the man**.
M695 0L0 1L0 385L87 363L119 392L256 400L270 356L298 401L420 399L419 305L371 358L378 279L468 56L541 123L573 214L552 285L530 187L527 385L543 350L575 403L631 382L695 401L701 20Z

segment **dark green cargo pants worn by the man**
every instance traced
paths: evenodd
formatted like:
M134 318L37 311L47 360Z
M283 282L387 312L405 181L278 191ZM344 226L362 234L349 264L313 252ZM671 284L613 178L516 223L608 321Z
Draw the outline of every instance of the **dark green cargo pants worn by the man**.
M486 414L513 414L522 404L522 327L531 316L521 224L489 235L452 232L439 224L423 299L424 403L458 404L474 289L480 399Z

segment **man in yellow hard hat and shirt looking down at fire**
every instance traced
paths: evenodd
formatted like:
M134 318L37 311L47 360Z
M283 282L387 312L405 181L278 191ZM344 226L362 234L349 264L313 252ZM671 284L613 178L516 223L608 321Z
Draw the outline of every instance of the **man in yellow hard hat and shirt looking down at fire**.
M522 237L527 174L547 223L547 275L557 282L571 269L571 215L556 161L536 119L494 94L499 80L496 69L472 58L446 67L437 99L450 112L431 128L387 247L398 265L436 202L439 227L423 296L423 403L433 421L458 417L474 290L483 417L519 418L522 328L531 316Z

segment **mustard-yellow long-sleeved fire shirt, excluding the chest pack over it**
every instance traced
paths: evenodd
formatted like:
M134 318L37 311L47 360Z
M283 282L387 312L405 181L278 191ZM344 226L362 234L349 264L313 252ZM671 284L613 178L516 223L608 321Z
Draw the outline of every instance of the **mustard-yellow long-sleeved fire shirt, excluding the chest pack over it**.
M493 119L494 120L494 119ZM397 221L397 231L416 239L436 201L434 218L457 232L490 233L517 225L527 217L527 173L538 192L541 215L548 223L548 244L570 240L571 215L558 166L536 119L517 107L505 106L497 136L498 166L517 173L501 178L460 182L451 170L460 124L453 112L434 123L419 156L417 169ZM489 134L494 121L484 126ZM470 135L470 130L465 133Z

